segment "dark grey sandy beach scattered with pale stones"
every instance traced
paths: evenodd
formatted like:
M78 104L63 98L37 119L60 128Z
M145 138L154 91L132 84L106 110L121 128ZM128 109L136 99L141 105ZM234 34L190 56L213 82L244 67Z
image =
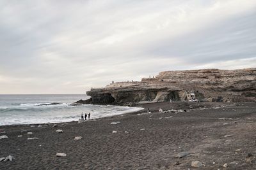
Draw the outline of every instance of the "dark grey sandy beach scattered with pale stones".
M0 136L8 138L0 139L0 157L12 155L15 160L0 162L0 169L256 169L256 103L143 107L153 113L144 110L58 127L1 126L6 133ZM158 113L159 107L186 112ZM74 140L76 136L83 138ZM175 158L185 151L190 153L187 157ZM67 157L56 157L58 152ZM203 166L191 167L193 160Z

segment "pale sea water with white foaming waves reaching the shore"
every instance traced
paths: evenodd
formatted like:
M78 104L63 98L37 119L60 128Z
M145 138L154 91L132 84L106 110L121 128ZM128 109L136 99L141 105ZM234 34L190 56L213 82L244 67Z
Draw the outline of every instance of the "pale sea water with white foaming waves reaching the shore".
M0 125L71 122L79 120L82 112L90 112L92 119L141 110L141 108L93 104L70 106L71 103L88 98L84 94L0 95Z

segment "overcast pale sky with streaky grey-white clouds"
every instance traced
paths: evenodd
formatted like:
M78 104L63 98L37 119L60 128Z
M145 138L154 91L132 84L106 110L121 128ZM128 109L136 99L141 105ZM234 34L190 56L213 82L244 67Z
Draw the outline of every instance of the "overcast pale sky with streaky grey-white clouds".
M0 94L256 67L255 0L0 1Z

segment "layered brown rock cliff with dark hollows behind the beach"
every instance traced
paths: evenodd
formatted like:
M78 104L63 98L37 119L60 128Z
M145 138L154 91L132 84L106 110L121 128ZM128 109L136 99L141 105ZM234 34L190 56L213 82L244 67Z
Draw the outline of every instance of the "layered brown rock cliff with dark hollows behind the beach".
M164 71L141 81L111 83L86 92L84 103L122 104L160 101L256 101L256 68Z

